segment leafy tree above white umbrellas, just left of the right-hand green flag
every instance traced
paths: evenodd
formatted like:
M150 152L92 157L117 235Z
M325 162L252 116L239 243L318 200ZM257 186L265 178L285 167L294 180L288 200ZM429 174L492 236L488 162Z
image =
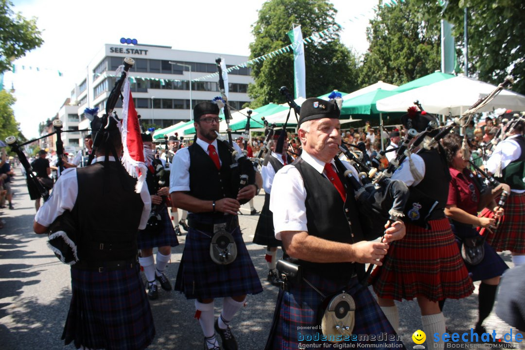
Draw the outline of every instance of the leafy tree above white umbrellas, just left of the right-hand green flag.
M441 9L437 2L384 6L380 0L366 29L370 47L359 70L360 86L378 80L400 85L440 69Z

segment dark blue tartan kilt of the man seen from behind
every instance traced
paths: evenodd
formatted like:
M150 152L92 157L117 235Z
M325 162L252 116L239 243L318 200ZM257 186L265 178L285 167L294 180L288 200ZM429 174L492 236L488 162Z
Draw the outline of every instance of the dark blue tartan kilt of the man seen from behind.
M155 326L139 264L108 272L71 268L71 289L66 345L135 350L151 344Z

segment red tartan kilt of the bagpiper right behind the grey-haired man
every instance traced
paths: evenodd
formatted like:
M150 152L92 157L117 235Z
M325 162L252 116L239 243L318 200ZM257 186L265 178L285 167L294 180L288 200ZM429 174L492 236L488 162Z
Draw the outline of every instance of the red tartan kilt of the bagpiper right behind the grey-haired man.
M405 223L406 235L391 243L383 266L372 272L371 284L381 298L430 301L460 299L474 284L447 218L430 220L430 230Z

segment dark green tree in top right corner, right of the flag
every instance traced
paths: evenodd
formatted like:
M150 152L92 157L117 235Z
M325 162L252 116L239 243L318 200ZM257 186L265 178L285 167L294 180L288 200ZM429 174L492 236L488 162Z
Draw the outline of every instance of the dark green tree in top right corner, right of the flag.
M521 0L449 0L445 18L463 45L464 9L468 14L469 75L499 84L509 74L512 90L525 94L525 3ZM463 60L461 60L463 65Z

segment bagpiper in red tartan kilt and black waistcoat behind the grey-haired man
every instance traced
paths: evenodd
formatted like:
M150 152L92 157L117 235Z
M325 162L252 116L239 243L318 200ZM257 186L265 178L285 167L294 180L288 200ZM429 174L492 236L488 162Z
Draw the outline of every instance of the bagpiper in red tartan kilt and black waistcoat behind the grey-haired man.
M416 111L414 107L401 121L406 130L422 132L435 117ZM474 284L444 214L450 173L443 148L435 143L429 150L422 149L405 158L392 178L403 181L410 189L404 217L406 236L391 244L383 266L372 272L371 284L381 309L395 329L399 325L399 314L394 300L417 298L423 331L426 334L445 333L445 317L438 301L465 298L474 291ZM428 199L437 203L426 216L420 213L420 204ZM421 221L426 227L412 223L420 218L425 218ZM427 337L427 344L429 347L436 345L431 337Z

